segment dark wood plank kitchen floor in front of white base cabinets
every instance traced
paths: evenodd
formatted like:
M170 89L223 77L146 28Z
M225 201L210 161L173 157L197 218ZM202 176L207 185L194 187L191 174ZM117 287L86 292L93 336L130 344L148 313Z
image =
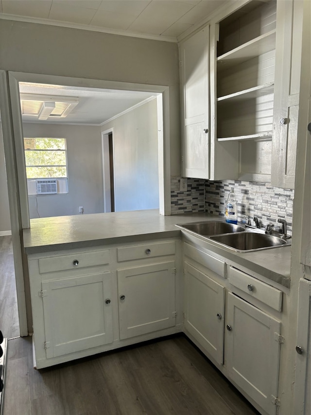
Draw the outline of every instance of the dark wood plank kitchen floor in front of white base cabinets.
M51 368L8 342L3 415L259 415L184 336Z

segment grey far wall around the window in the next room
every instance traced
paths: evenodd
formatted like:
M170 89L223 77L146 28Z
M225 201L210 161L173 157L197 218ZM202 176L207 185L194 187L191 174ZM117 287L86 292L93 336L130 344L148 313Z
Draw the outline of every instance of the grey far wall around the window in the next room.
M33 217L104 212L102 142L99 126L23 124L24 137L66 138L68 194L29 196Z

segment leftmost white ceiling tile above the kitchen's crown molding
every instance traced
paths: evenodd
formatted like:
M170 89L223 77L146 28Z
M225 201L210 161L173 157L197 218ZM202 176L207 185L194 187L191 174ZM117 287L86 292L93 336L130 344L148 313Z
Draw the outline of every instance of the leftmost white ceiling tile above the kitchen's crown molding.
M9 15L48 18L52 0L2 0L2 13Z

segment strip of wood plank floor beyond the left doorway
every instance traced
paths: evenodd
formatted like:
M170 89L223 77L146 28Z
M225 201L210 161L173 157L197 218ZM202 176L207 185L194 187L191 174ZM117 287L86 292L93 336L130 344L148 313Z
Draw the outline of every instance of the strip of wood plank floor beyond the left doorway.
M0 236L0 330L8 339L20 334L12 236Z

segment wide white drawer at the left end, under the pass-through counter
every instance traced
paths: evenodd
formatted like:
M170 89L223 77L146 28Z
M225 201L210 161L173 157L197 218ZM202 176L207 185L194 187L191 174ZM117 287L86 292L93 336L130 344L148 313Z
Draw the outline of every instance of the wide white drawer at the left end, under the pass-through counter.
M109 262L109 250L51 256L50 258L41 258L38 260L40 274L94 267L97 265L109 264Z

